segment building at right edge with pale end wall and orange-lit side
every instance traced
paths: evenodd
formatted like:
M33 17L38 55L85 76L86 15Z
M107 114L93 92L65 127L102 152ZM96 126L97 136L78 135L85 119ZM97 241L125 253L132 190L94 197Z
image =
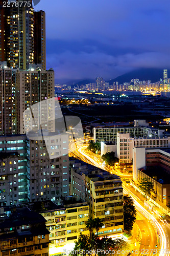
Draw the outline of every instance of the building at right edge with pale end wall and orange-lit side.
M163 205L170 200L170 150L144 147L133 148L133 182L148 177L154 184L153 199Z

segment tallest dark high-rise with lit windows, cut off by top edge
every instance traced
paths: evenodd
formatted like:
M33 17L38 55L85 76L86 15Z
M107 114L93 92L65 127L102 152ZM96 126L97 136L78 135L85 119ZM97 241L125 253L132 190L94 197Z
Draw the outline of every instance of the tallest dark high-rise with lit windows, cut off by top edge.
M22 70L28 70L30 63L42 63L45 69L45 13L34 15L32 0L17 0L18 7L13 3L3 7L4 2L0 0L0 61Z

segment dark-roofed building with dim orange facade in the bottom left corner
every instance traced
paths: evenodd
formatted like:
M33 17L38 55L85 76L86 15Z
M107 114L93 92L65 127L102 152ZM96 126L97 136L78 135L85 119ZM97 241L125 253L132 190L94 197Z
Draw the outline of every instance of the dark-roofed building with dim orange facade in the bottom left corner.
M45 219L29 208L0 208L1 255L48 256L49 231Z

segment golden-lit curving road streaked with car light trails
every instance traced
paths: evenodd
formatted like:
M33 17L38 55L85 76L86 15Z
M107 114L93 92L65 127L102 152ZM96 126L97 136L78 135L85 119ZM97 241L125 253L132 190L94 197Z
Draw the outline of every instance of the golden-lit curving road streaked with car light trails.
M77 156L81 160L87 163L91 163L95 166L98 166L102 169L108 170L106 166L102 164L100 159L96 156L89 156L84 149L87 145L83 143L86 140L79 141L76 144L74 142L70 143L70 149L72 151L71 155ZM119 175L122 178L130 178L129 175L123 175L122 173ZM141 230L141 240L138 242L138 246L136 244L136 248L139 248L139 254L144 256L153 255L154 252L156 255L164 256L170 255L169 253L169 237L170 237L170 227L167 222L162 223L155 218L151 212L144 208L143 202L140 198L137 197L132 191L131 188L127 188L127 186L123 185L124 193L129 194L133 200L135 207L137 209L137 216L139 219L136 220L136 224L139 226ZM158 245L158 248L156 247ZM135 249L135 244L134 244ZM152 250L153 249L153 250ZM168 253L167 253L168 252ZM137 254L134 254L137 255Z

